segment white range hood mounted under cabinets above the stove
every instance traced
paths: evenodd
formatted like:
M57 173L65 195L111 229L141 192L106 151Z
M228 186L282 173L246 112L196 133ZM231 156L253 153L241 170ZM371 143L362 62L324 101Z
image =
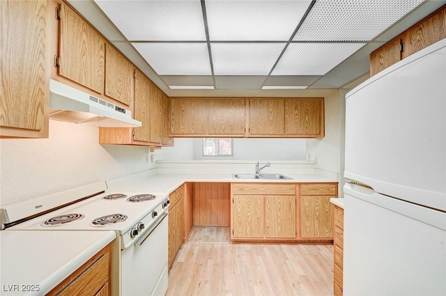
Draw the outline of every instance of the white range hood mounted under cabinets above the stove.
M132 111L49 79L49 118L97 127L140 127Z

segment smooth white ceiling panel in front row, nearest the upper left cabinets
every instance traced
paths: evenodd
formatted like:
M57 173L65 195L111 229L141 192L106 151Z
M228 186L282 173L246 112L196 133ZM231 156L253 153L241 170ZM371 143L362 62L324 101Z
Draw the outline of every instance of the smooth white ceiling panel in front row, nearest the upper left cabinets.
M206 40L199 0L95 0L125 38L134 40Z

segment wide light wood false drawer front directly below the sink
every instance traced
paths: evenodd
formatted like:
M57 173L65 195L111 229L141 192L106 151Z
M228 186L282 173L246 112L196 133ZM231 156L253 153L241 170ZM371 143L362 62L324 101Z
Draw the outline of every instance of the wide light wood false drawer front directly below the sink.
M294 184L233 183L233 194L295 195Z

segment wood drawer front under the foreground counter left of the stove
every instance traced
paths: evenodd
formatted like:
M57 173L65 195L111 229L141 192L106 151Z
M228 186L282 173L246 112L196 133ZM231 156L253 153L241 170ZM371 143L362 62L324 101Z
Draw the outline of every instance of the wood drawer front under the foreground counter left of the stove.
M100 257L58 295L95 295L109 278L109 254Z

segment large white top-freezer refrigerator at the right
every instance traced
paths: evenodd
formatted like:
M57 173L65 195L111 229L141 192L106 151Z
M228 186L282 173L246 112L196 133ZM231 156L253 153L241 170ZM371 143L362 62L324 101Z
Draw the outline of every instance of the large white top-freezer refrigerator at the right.
M446 295L446 39L346 95L344 295Z

